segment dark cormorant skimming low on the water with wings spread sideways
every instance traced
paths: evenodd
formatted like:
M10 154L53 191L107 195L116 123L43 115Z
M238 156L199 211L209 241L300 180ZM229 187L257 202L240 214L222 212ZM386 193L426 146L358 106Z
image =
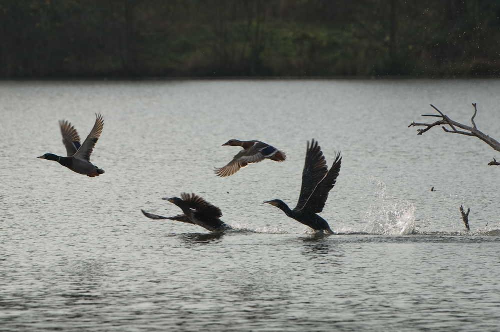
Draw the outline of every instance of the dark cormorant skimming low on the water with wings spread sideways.
M181 215L163 217L147 213L142 209L140 211L142 211L144 216L150 219L170 219L181 221L183 223L201 226L211 232L231 229L230 226L219 219L222 216L222 212L216 206L211 205L195 194L182 193L180 197L182 198L172 197L162 199L178 206L183 212Z

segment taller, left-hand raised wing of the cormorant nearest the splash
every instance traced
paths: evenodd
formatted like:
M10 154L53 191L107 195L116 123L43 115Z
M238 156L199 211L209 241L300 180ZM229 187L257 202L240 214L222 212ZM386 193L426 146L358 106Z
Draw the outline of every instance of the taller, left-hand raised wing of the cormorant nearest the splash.
M317 145L314 138L309 146L307 141L307 152L305 153L304 169L302 171L302 187L300 188L300 196L295 209L302 209L316 185L326 175L328 167L324 160L321 147ZM294 209L294 210L295 210Z

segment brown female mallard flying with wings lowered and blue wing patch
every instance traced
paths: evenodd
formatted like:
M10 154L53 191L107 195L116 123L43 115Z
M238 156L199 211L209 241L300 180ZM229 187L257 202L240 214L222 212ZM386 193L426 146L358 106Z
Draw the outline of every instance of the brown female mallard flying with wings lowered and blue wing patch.
M227 165L214 170L215 174L221 177L232 175L239 171L241 167L245 167L251 163L258 163L264 159L279 162L286 159L286 155L283 151L260 141L239 141L237 139L230 139L222 144L222 146L224 145L241 146L243 150L239 151Z

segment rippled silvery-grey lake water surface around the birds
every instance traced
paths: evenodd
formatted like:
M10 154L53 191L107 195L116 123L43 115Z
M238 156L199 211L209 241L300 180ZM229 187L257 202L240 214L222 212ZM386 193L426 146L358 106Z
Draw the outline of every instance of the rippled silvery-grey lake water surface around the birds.
M500 80L0 82L1 331L498 331ZM57 120L104 130L89 178L55 162ZM257 139L285 151L219 178ZM298 199L307 140L335 187L312 234L264 200ZM435 191L430 189L434 187ZM152 221L193 192L234 230ZM459 206L470 208L464 231Z

